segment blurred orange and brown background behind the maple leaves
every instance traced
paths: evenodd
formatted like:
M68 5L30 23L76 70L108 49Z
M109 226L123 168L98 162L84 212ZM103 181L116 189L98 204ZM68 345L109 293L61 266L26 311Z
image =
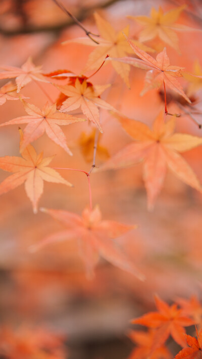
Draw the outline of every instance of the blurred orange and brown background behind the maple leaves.
M61 1L62 2L62 1ZM201 2L156 0L63 0L62 4L84 26L97 33L93 13L97 11L117 31L130 24L130 36L138 37L140 26L127 15L149 15L151 7L164 11L186 3L179 23L200 28ZM0 65L21 66L29 56L42 65L45 73L69 69L82 73L93 47L78 43L61 45L67 39L84 36L84 32L61 11L52 0L1 0L0 2ZM178 32L181 55L167 46L171 64L193 72L194 60L201 60L201 33ZM163 49L158 41L147 45ZM90 72L87 73L89 75ZM160 91L155 89L140 96L145 72L131 69L128 89L111 64L105 65L91 81L111 83L102 96L130 118L151 125L163 106ZM1 80L2 85L6 80ZM183 83L183 82L182 82ZM58 91L50 84L42 86L56 99ZM201 82L202 87L202 82ZM29 101L41 107L47 101L34 82L21 90ZM201 109L201 90L194 95ZM176 104L169 104L175 111ZM0 109L1 122L23 116L20 101L7 101ZM112 156L131 140L118 121L100 110L104 133L100 145ZM202 116L197 116L202 123ZM56 167L89 171L92 162L83 155L81 136L91 134L86 123L63 127L73 157L49 140L46 135L34 142L44 156L57 156ZM190 119L177 119L178 132L201 135ZM88 148L89 150L89 148ZM0 131L0 156L19 156L18 126ZM202 182L202 148L197 147L184 158ZM103 163L97 156L96 164ZM64 209L81 214L88 204L88 186L83 173L60 171L74 188L45 182L39 207ZM4 180L8 173L1 170ZM154 293L171 302L177 296L201 297L202 268L202 197L168 171L164 188L153 212L146 208L146 192L142 180L142 164L117 171L92 173L93 204L98 203L104 219L138 224L117 242L146 277L139 282L134 276L100 259L95 276L88 280L74 241L48 246L36 253L29 247L45 235L63 226L44 213L33 215L24 187L1 196L0 205L0 321L11 328L43 327L62 335L70 358L126 358L133 345L126 336L130 319L154 309ZM134 327L134 326L133 326Z

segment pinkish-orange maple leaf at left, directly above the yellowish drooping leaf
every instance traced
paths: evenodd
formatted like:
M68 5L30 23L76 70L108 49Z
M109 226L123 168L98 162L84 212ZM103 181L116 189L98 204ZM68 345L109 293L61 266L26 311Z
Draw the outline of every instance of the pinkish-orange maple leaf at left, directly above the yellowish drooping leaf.
M36 140L38 137L42 136L44 132L46 132L49 138L51 138L72 156L72 152L67 146L65 135L59 125L70 125L74 122L85 121L85 119L80 119L68 114L62 114L57 111L56 104L51 106L46 104L42 110L40 110L36 106L29 104L24 100L22 100L22 103L28 115L17 117L0 125L0 127L2 127L28 123L24 129L24 138L21 144L21 150L23 151L30 142Z

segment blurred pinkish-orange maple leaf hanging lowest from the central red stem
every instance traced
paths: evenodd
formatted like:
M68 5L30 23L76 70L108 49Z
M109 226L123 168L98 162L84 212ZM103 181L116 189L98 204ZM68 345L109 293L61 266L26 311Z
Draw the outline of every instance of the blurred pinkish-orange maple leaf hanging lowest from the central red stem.
M54 242L77 239L80 253L89 275L92 275L100 254L113 265L132 273L140 280L144 279L144 276L136 269L135 265L112 240L136 228L136 226L115 221L103 221L98 206L92 211L86 207L81 217L62 210L41 209L41 211L62 222L67 228L51 234L38 244L33 245L31 247L32 251Z

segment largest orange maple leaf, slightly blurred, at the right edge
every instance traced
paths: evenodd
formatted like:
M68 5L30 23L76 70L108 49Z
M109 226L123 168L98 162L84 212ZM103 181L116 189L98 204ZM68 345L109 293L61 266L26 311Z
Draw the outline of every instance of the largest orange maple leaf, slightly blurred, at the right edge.
M175 118L164 122L161 112L151 131L140 121L115 116L135 142L128 144L107 161L100 170L132 166L144 160L143 179L148 196L148 209L154 207L166 176L167 167L189 186L201 191L196 175L178 152L184 152L202 144L202 138L186 133L173 133Z

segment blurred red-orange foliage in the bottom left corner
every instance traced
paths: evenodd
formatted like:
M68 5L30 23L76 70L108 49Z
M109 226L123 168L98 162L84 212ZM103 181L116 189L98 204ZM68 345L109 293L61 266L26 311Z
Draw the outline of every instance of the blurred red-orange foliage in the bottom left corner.
M62 338L47 329L0 328L0 356L8 359L65 359Z

